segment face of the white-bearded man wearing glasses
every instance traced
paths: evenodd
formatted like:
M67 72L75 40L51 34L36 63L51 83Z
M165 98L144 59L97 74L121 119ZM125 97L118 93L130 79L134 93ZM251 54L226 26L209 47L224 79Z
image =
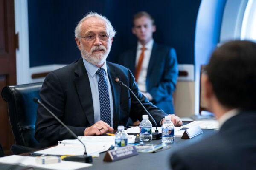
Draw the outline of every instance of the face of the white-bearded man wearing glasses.
M113 37L101 40L101 35L110 34L109 28L104 20L90 17L81 24L80 40L76 37L76 44L81 55L88 62L101 67L106 61L111 49ZM85 38L83 38L85 37ZM95 37L94 39L89 39Z

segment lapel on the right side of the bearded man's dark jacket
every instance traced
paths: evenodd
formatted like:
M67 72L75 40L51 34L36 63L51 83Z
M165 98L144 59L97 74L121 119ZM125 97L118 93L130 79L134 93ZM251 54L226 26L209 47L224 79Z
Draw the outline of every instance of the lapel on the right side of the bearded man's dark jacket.
M119 124L119 110L120 110L120 95L121 95L121 87L119 84L115 82L116 77L120 79L120 76L116 74L116 69L109 65L107 62L108 69L108 79L111 84L111 92L113 96L113 124L114 129L117 129L117 125Z

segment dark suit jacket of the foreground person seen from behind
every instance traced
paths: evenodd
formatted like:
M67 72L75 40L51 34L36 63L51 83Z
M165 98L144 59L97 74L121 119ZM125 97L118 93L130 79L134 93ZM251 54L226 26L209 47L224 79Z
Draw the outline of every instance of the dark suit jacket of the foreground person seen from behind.
M172 154L173 170L253 170L256 111L241 111L218 133Z

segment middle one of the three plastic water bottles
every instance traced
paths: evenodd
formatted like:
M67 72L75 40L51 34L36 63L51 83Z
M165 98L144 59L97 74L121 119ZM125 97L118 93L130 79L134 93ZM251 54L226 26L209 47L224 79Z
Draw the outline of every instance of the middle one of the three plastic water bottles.
M148 115L142 116L143 120L140 122L140 140L146 142L152 140L152 124L148 120Z

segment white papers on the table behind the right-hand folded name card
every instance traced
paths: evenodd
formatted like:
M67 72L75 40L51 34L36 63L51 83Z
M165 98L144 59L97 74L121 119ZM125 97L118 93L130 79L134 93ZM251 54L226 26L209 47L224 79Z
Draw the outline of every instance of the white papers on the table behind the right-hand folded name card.
M181 126L182 128L191 128L195 126L200 126L201 129L219 129L218 121L193 121L187 125Z

